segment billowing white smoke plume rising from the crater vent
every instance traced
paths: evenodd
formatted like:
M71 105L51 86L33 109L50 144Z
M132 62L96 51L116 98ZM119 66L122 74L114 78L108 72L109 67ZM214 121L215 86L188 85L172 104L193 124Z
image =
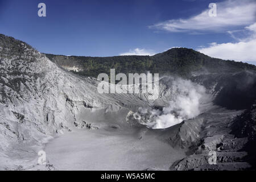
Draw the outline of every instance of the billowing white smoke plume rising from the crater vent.
M182 78L172 79L165 90L170 90L168 106L162 109L140 108L134 118L152 129L167 128L199 115L200 104L209 98L204 86Z

